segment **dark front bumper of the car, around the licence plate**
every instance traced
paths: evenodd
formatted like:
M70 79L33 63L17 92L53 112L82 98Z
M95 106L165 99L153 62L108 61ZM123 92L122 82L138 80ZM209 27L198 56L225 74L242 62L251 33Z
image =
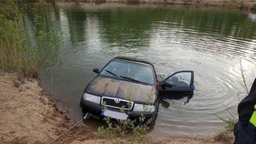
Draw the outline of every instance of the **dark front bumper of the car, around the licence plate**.
M94 115L103 117L101 115L103 108L101 107L100 104L95 104L95 103L92 103L90 101L81 99L80 108L83 111L90 112ZM120 109L115 109L115 108L107 108L107 109L112 110L112 111L120 112ZM134 111L126 111L125 113L128 115L128 118L132 118L132 119L133 118L140 118L142 116L146 119L149 119L149 118L153 118L156 114L156 112L151 113L151 112L134 112Z

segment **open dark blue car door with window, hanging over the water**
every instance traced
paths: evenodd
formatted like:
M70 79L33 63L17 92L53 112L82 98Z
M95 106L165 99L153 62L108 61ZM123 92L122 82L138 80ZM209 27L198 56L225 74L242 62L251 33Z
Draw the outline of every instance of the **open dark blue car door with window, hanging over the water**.
M165 80L157 86L157 90L160 95L182 92L193 93L194 89L194 71L189 70L178 71L165 78Z

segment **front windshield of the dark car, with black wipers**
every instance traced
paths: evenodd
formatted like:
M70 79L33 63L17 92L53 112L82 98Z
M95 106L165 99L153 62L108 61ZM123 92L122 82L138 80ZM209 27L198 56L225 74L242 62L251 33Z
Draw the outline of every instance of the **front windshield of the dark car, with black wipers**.
M153 67L126 60L112 60L102 71L101 75L109 77L120 77L126 80L153 85Z

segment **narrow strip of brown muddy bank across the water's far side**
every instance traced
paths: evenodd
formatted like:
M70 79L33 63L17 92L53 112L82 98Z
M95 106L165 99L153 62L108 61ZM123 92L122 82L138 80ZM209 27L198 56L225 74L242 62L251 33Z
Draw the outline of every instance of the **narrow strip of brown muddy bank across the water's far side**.
M256 10L255 0L31 0L31 2L73 2L95 4L131 4L131 5L193 5Z

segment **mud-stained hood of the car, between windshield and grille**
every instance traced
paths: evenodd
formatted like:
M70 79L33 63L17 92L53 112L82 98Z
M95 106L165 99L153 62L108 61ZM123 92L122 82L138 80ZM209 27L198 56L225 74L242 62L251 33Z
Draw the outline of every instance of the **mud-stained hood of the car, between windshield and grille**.
M155 86L137 84L109 77L96 77L86 89L97 96L123 98L134 102L154 104Z

